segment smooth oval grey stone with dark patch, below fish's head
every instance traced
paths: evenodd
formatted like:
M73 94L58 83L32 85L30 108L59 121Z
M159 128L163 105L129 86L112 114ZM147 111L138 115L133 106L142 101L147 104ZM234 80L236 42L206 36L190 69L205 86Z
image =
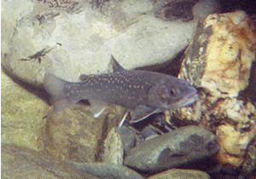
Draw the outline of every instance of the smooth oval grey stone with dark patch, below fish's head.
M218 150L218 138L212 132L187 126L134 147L124 164L134 170L155 173L207 159Z

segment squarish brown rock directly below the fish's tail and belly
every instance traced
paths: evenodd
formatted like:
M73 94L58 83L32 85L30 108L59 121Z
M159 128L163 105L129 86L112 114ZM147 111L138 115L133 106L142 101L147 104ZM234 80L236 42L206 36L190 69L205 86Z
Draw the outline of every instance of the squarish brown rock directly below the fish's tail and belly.
M44 131L45 150L56 159L94 162L105 115L94 118L89 106L75 104L62 113L49 113Z

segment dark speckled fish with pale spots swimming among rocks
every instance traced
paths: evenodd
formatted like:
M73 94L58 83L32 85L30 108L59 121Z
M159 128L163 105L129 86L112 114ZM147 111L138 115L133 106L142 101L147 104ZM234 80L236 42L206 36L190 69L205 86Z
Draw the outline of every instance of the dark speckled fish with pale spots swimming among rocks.
M187 81L170 75L139 70L125 70L112 57L113 72L81 75L79 83L64 81L46 73L44 88L51 95L53 112L82 100L113 103L133 111L131 123L166 109L189 106L197 99L197 90Z

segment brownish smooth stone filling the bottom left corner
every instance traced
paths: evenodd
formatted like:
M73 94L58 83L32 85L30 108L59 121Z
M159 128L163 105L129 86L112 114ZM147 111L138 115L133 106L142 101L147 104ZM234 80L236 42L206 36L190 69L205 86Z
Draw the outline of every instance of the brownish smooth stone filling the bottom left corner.
M98 178L42 152L1 143L3 178Z

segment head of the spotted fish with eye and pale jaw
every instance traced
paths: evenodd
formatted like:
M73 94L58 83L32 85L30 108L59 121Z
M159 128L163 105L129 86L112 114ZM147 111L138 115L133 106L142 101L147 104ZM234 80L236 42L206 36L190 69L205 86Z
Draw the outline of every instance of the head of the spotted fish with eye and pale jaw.
M148 90L148 101L161 110L189 106L198 98L197 90L187 81L172 76L160 80Z

